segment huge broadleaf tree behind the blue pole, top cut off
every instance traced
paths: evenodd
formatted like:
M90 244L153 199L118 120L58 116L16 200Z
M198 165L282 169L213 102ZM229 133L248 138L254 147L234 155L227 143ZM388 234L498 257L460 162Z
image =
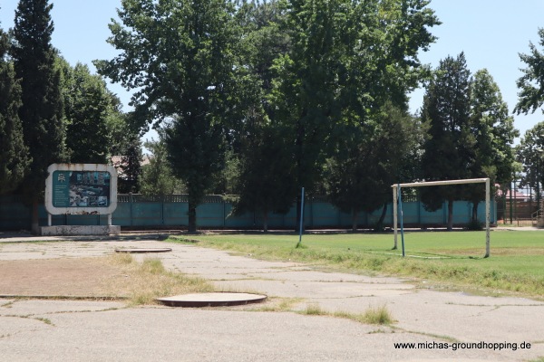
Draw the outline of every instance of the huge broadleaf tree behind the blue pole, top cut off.
M270 100L276 110L272 120L282 122L291 138L296 186L312 190L316 185L335 125L364 124L387 100L405 103L406 92L417 86L425 71L417 54L434 41L428 27L439 24L428 4L287 4L290 52L275 62Z

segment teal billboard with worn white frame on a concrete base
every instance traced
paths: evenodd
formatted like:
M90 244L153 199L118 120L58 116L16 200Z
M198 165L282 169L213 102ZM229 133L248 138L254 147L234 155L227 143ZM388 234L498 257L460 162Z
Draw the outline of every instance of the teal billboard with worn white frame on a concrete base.
M42 234L109 234L121 233L112 226L117 208L117 170L102 164L53 164L47 167L45 209L48 226ZM52 226L51 214L107 214L107 226ZM119 232L117 232L119 228ZM88 230L87 230L88 229ZM104 230L102 230L104 229Z

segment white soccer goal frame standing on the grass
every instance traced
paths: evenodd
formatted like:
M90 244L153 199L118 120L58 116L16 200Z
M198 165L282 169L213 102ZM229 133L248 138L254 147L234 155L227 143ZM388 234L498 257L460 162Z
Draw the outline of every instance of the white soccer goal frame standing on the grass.
M403 238L403 256L404 256L404 232L403 232L403 210L402 210L402 187L422 187L422 186L444 186L444 185L461 185L461 184L481 184L485 183L485 255L484 258L490 256L490 219L491 219L491 186L489 178L467 178L462 180L444 180L444 181L427 181L413 182L411 184L396 184L393 185L393 229L394 229L394 249L397 249L397 234L398 234L398 211L397 203L401 205L401 234Z

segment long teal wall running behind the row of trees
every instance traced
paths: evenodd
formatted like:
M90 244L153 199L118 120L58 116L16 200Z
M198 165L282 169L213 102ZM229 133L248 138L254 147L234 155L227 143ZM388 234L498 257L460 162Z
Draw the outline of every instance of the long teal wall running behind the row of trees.
M485 221L485 205L479 205L479 220ZM260 229L263 224L262 214L232 214L233 204L228 197L207 195L197 207L197 225L199 228L219 229ZM496 205L491 203L491 224L496 224ZM186 227L189 224L189 205L187 195L118 195L117 209L112 214L112 224L127 228L151 227ZM453 224L465 225L471 221L472 205L466 201L456 201L453 205ZM357 217L359 228L371 228L378 222L382 209L373 213L361 212ZM403 202L403 222L405 226L432 227L447 224L447 207L428 212L419 201ZM39 209L40 225L47 224L47 213L43 205ZM352 226L351 214L338 210L327 201L326 197L307 197L305 201L306 228L338 228ZM72 215L52 216L53 225L105 225L107 215ZM267 218L270 229L295 229L296 207L287 214L269 214ZM393 207L387 205L384 225L393 224ZM28 230L31 225L30 206L24 205L18 195L0 196L0 230Z

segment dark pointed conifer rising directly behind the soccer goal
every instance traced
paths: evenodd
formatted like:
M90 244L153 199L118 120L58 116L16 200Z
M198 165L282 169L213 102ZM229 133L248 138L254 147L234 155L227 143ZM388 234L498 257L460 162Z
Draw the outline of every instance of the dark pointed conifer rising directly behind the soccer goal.
M423 122L430 138L424 143L425 181L471 177L476 140L471 134L471 71L464 54L442 60L423 98ZM448 202L448 230L452 230L453 201L462 198L460 186L423 187L426 208L437 210Z

